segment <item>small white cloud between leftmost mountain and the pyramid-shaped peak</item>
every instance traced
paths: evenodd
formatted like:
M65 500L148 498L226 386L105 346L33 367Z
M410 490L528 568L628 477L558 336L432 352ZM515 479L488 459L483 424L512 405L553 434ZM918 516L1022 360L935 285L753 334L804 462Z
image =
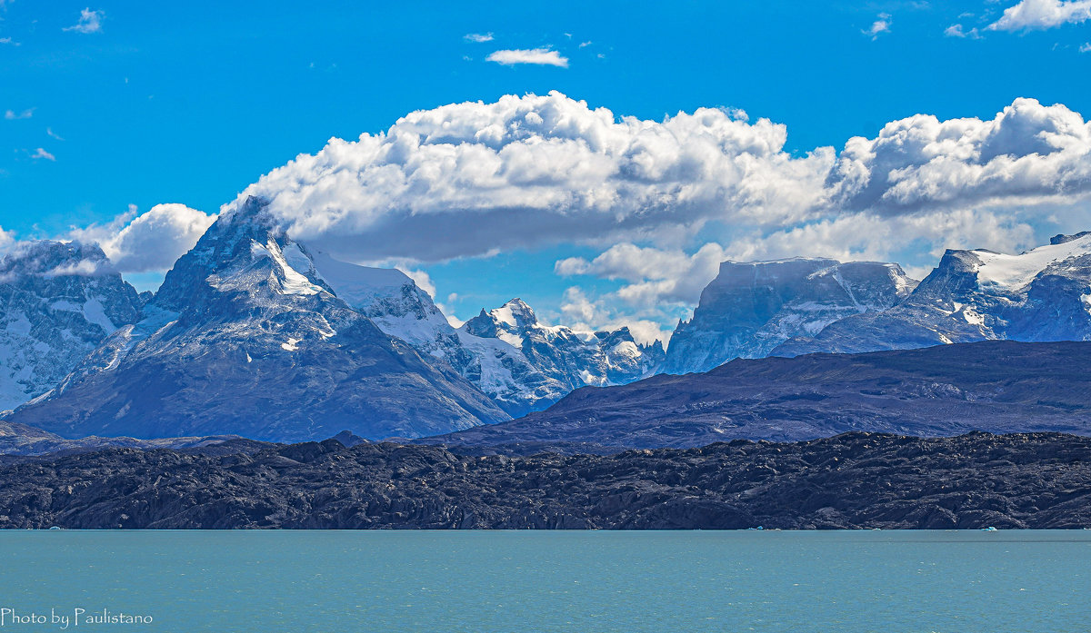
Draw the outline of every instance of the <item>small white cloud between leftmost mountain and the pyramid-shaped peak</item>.
M170 268L215 220L180 204L156 205L142 215L130 206L109 223L72 229L68 236L98 244L121 272L147 272Z

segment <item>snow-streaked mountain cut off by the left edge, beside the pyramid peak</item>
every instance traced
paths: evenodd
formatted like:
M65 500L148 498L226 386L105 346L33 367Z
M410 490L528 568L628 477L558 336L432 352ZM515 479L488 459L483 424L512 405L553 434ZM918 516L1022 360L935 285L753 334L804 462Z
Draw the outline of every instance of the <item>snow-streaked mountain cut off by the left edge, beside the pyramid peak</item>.
M0 411L51 389L142 301L97 246L32 242L0 260Z

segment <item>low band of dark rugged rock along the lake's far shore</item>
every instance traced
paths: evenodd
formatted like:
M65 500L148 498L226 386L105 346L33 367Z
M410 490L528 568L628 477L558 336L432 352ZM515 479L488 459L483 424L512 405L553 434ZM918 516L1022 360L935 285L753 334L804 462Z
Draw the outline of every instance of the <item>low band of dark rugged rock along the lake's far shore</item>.
M852 433L611 457L336 440L0 464L0 527L1076 528L1091 438Z

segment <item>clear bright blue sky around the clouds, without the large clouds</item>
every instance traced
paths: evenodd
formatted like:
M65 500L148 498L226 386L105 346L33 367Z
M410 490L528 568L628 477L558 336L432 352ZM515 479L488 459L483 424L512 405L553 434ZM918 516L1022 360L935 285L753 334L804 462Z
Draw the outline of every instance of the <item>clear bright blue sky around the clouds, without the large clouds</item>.
M988 121L1019 97L1091 115L1091 51L1080 51L1091 48L1091 21L1070 11L1056 25L987 29L1014 0L374 4L0 1L0 227L16 239L61 236L107 224L130 205L143 212L160 203L213 214L331 137L355 139L415 110L503 95L558 90L651 121L741 109L752 123L783 124L792 157L824 146L840 153L850 137L874 138L918 113ZM952 36L955 24L970 36ZM487 60L532 49L555 51L566 66ZM1068 210L1083 202L994 200L988 212L1008 222L1007 233L955 231L949 245L1030 246L1076 228L1082 218ZM944 212L980 211L968 209ZM784 226L810 221L801 218ZM712 219L669 244L646 233L618 241L693 255L704 242L738 244L733 222ZM752 229L768 235L778 227ZM558 273L558 261L591 261L610 239L406 266L427 272L436 300L461 318L519 294L573 320L576 311L562 305L577 288L568 299L583 294L598 309L589 318L601 322L589 325L644 318L669 329L692 304L685 292L638 305L611 294L633 275ZM996 243L962 243L972 239ZM861 253L926 269L936 247L925 236ZM156 273L133 278L147 285Z

